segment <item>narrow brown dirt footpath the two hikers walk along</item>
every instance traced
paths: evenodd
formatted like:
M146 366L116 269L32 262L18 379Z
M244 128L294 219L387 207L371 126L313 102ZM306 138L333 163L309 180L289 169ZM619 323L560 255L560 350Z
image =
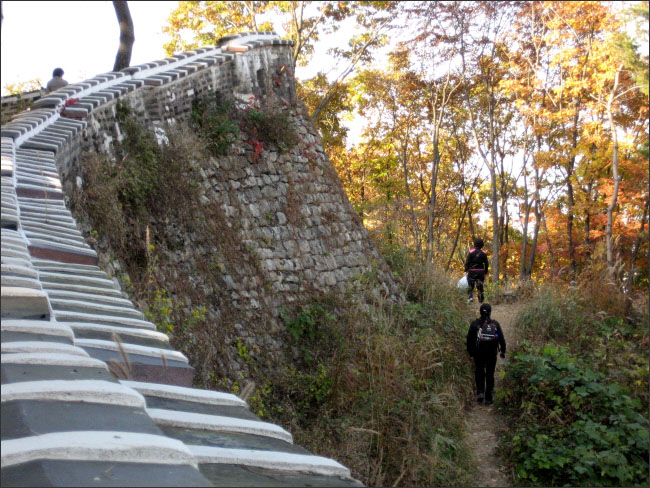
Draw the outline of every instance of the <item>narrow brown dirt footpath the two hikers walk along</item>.
M501 324L508 350L505 359L498 358L494 375L495 390L498 390L500 386L499 372L503 370L510 353L516 349L517 337L513 324L522 306L522 303L503 303L492 306L492 317ZM476 312L478 312L478 308ZM478 313L475 315L478 316ZM475 486L512 486L511 477L505 471L496 452L499 442L498 432L502 425L503 419L493 405L474 404L467 414L467 443L472 450L477 473Z

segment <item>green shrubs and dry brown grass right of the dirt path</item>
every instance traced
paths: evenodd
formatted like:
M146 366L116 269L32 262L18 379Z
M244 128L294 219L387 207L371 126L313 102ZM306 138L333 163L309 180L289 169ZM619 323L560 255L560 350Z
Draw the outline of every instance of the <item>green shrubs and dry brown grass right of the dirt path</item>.
M496 402L515 485L649 483L647 296L630 309L603 268L540 286L515 321Z

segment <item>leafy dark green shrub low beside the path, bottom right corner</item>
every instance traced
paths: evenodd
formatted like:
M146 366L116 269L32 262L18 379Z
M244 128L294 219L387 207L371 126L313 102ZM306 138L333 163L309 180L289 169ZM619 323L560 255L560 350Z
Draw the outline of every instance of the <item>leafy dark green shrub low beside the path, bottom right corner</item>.
M512 355L500 408L516 419L502 439L516 481L532 486L648 485L641 403L556 346Z

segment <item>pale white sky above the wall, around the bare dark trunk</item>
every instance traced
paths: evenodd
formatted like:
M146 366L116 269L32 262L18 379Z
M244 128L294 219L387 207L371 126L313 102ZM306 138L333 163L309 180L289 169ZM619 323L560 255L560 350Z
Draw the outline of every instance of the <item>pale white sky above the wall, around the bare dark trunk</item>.
M131 65L165 57L161 30L178 2L129 1L135 29ZM2 94L7 83L40 78L61 67L70 83L113 69L120 29L110 1L3 1Z

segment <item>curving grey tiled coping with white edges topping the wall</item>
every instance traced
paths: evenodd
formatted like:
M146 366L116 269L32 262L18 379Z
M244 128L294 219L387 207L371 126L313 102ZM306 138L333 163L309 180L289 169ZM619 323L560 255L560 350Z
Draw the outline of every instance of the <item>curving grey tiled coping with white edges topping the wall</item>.
M2 486L360 486L238 397L191 387L187 358L99 268L59 179L96 108L287 44L224 38L69 85L2 127Z

